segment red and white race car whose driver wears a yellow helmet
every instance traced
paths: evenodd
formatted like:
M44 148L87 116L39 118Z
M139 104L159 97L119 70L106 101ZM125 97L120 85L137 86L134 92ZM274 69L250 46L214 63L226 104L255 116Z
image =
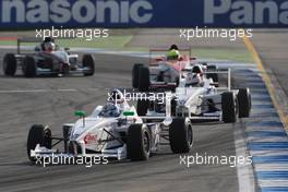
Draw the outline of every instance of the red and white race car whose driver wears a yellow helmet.
M216 65L196 62L191 57L191 48L179 49L172 45L168 56L152 59L152 52L168 51L167 49L151 49L149 64L146 67L136 63L132 70L132 86L141 92L148 89L175 89L179 85L180 76L194 73L199 79L212 79L215 86L218 84L218 69ZM189 51L189 55L180 55L179 51Z

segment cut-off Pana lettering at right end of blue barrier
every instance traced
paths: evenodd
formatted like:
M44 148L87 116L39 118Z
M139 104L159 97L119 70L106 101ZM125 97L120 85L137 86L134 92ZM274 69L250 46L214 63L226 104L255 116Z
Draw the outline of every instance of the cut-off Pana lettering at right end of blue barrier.
M221 15L236 25L288 24L288 1L204 0L204 23L217 23Z

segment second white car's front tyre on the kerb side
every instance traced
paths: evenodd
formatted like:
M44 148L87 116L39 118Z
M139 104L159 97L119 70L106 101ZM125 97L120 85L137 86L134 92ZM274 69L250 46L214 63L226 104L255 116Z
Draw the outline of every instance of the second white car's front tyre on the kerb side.
M238 101L232 92L225 92L221 94L221 110L223 121L231 123L237 121Z

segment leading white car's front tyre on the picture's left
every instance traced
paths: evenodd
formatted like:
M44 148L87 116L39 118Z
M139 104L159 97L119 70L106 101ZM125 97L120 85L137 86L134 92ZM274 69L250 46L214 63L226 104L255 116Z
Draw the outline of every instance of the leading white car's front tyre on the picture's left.
M51 131L43 124L34 124L29 129L27 137L27 155L31 161L36 160L35 157L31 156L31 151L35 149L37 144L49 149L52 147Z

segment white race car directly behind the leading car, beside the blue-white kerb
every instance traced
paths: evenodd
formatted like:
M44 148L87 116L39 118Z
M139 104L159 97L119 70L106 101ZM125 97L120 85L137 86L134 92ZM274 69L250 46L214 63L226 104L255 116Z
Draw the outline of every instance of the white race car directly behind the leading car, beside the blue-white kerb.
M141 116L159 116L165 113L166 105L169 105L173 117L188 117L191 121L217 120L232 123L238 118L248 118L252 105L250 89L231 89L230 69L218 73L228 73L227 87L216 87L211 79L203 79L202 84L195 86L182 76L169 104L140 100L137 112Z

